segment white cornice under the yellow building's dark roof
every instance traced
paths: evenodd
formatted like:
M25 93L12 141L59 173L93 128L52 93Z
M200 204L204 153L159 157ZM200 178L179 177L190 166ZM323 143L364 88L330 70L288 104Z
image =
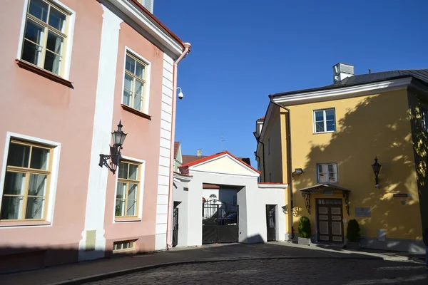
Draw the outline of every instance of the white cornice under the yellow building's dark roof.
M342 98L352 98L362 95L373 94L374 91L386 92L388 90L398 90L406 88L412 81L412 78L401 78L392 81L382 81L377 83L369 83L358 86L347 86L343 88L335 88L330 90L319 90L305 93L296 93L291 95L275 96L275 103L282 105L298 105L303 103L315 103L327 100L337 100ZM388 90L384 90L388 89ZM283 104L286 103L286 104Z

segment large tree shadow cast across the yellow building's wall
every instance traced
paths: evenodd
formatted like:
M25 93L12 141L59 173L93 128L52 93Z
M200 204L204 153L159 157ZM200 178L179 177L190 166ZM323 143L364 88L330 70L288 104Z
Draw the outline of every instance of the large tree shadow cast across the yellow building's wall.
M308 215L298 190L317 184L317 163L337 162L337 185L351 190L349 218L355 217L355 207L371 208L371 217L357 217L362 237L376 237L377 229L386 229L387 237L422 239L418 199L421 208L423 204L428 207L421 191L424 189L427 137L422 131L420 106L410 103L409 107L404 94L404 91L396 91L366 97L355 108L347 109L345 116L337 121L337 132L331 134L327 143L308 142L311 147L305 172L295 177L294 195L300 196L295 204L296 215ZM327 135L330 136L313 135L312 139L323 140L322 136ZM417 160L417 173L414 152L422 157ZM379 188L374 187L371 167L376 156L382 164ZM396 193L412 196L393 197ZM313 206L312 220L315 219ZM346 213L344 218L348 218ZM295 219L295 229L297 223ZM346 231L346 224L344 226ZM315 227L313 222L312 227Z

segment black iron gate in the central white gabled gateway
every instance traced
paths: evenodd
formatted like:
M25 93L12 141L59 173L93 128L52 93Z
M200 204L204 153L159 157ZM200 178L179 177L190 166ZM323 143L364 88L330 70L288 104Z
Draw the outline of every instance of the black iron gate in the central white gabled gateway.
M238 242L239 207L217 200L202 203L202 243Z

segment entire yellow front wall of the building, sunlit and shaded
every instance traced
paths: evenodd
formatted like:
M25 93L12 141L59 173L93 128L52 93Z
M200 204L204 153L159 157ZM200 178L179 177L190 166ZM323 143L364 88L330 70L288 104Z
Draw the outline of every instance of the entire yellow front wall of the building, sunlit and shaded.
M356 218L362 237L377 237L377 229L386 229L390 239L422 239L406 90L288 108L291 110L292 169L302 168L304 171L293 177L295 233L299 218L307 216L315 234L316 197L342 197L311 195L312 212L309 215L299 192L317 184L317 163L337 162L337 185L351 190L350 216L344 207L344 218L355 218L355 207L371 208L370 218ZM312 133L312 110L320 108L335 108L335 133ZM282 133L282 138L284 136ZM286 154L285 147L283 143L283 154ZM371 167L375 156L382 164L379 189L374 187ZM393 193L409 193L412 197L393 198ZM346 227L344 224L345 233Z

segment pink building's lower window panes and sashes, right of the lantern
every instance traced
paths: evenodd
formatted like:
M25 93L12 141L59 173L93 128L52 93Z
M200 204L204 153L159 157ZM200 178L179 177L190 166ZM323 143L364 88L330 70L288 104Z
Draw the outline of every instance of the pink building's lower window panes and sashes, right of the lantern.
M140 190L140 165L120 162L116 190L116 217L137 217Z

